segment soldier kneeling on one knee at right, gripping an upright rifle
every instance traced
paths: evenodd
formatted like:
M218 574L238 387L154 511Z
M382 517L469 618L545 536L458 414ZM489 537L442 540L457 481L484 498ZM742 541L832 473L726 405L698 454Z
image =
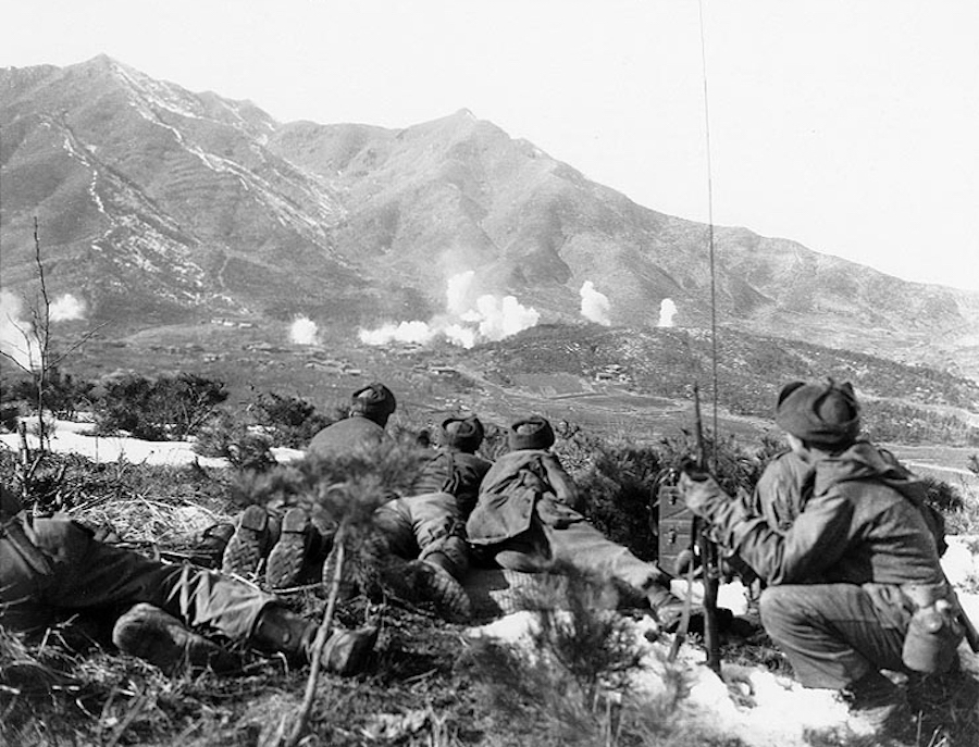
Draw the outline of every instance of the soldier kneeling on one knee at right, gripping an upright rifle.
M968 624L939 562L941 516L919 480L858 438L850 384L784 386L776 423L793 456L768 466L754 501L691 469L686 505L767 584L761 622L802 684L892 725L904 693L881 670L949 670Z

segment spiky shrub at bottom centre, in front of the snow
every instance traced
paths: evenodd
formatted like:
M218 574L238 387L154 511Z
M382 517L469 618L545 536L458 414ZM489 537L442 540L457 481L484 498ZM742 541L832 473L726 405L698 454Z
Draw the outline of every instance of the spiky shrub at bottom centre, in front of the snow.
M632 686L645 655L628 619L609 609L615 590L570 569L558 589L530 592L537 610L526 648L476 639L466 656L474 687L519 743L624 747L736 746L684 708L690 683L680 667L661 662L666 681L656 694ZM538 587L540 588L540 587Z

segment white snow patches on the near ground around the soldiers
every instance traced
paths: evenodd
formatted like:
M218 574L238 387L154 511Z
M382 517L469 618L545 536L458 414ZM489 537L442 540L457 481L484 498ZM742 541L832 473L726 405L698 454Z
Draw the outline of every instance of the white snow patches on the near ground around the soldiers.
M197 460L205 466L223 466L223 459L196 455L190 441L144 441L127 437L95 437L86 435L90 426L79 423L58 422L51 446L54 451L75 452L94 461L148 464L189 464ZM28 436L30 446L37 439ZM0 448L16 449L16 434L0 435ZM295 449L276 449L280 461L301 457ZM979 621L979 538L949 537L949 550L942 559L950 581L959 593L959 599L972 621ZM673 583L673 590L685 595L685 582ZM694 587L694 599L698 588ZM736 583L727 584L720 592L720 605L735 614L744 611L744 589ZM536 624L533 612L516 612L493 623L469 631L471 636L493 636L516 644L529 643L529 631ZM644 668L635 676L637 690L655 695L664 687L664 670L669 643L650 642L647 634L655 633L656 623L644 618L634 624L636 645L645 651ZM979 675L979 657L971 653L966 644L959 648L967 669ZM691 690L685 708L696 711L702 723L718 726L722 732L741 738L753 747L805 747L806 730L846 730L867 734L866 724L847 718L846 707L832 690L805 689L790 678L777 676L763 668L738 667L741 697L732 697L726 683L706 665L704 651L684 645L679 661L691 675Z

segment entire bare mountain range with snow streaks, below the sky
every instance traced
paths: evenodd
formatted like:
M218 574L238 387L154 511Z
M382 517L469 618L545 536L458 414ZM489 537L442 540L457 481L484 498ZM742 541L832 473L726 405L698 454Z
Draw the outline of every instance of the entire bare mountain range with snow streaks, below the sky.
M587 283L612 325L649 329L667 299L677 326L710 316L707 226L466 110L404 129L282 124L99 57L0 70L0 128L4 286L32 276L37 216L51 287L107 334L226 314L464 324L484 295L566 323ZM979 376L979 294L745 228L717 227L716 249L727 327Z

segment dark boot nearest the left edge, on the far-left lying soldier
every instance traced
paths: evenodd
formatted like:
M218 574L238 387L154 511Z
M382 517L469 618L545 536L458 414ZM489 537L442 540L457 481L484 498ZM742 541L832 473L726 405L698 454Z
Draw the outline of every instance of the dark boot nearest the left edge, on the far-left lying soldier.
M123 653L144 659L173 676L186 670L239 671L240 656L188 630L159 607L139 603L120 617L112 643Z

